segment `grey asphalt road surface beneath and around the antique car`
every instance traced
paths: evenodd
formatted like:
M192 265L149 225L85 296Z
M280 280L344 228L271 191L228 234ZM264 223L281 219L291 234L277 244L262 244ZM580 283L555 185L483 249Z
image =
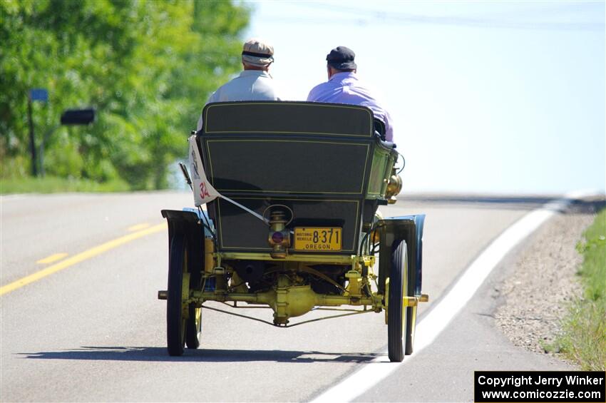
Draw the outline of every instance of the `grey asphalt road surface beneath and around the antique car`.
M421 320L491 240L544 202L416 195L382 208L386 216L427 214L423 292L431 302ZM192 205L189 193L17 195L0 205L1 286L73 261L0 297L3 402L303 401L386 346L382 314L279 329L205 310L200 350L169 357L165 302L156 299L166 288L168 242L156 228L160 209ZM38 262L51 256L58 260ZM495 304L491 282L503 275L496 270L435 342L359 399L471 400L474 369L565 368L513 347L483 315ZM271 320L270 310L248 311Z

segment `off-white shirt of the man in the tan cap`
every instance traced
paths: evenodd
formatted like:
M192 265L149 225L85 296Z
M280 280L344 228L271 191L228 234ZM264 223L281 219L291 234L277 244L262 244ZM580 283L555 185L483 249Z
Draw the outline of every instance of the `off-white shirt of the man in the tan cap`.
M244 70L240 76L220 86L207 103L225 101L281 101L272 76L263 70ZM197 130L202 129L202 114Z

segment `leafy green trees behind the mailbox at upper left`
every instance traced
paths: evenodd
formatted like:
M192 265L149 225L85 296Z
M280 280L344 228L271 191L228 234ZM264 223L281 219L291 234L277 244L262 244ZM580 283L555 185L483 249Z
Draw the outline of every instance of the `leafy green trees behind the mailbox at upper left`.
M240 68L249 15L230 1L0 1L1 175L29 173L27 94L48 88L36 141L67 108L97 121L53 132L46 173L164 188L210 92Z

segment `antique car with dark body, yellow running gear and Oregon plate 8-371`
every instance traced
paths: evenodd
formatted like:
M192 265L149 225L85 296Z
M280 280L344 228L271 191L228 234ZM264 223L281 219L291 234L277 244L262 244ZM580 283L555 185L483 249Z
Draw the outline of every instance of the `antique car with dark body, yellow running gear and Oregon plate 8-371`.
M229 102L208 104L202 116L190 141L221 197L206 210L162 210L168 290L158 298L167 301L168 353L200 345L204 309L245 316L233 312L265 306L278 327L309 322L291 320L319 308L343 311L327 318L384 312L389 359L411 354L416 308L428 300L425 216L377 213L396 202L404 159L370 109Z

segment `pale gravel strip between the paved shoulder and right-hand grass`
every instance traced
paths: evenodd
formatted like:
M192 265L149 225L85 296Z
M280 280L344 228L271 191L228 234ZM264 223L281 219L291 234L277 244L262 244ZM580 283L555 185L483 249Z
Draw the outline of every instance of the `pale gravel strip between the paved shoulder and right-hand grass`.
M577 270L582 256L575 245L591 225L603 198L570 205L545 223L510 263L509 274L493 292L500 305L495 322L517 347L540 354L561 332L560 320L570 302L582 294Z

